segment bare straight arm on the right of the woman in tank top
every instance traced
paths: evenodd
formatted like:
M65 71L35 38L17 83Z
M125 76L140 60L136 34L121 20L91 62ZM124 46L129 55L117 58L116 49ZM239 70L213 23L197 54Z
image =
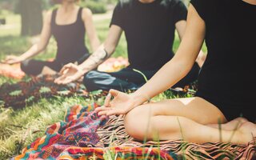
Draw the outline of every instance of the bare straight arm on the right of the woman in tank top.
M90 46L94 52L97 50L98 46L100 46L100 42L98 40L98 36L97 36L96 30L94 28L92 13L89 9L82 10L82 20L85 23L85 27L86 27L86 31L87 31L86 33L90 40Z

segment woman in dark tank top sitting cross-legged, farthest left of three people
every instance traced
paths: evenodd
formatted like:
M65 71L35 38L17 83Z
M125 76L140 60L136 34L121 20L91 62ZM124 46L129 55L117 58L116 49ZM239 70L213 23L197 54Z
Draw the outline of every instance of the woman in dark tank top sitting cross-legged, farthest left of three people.
M85 46L86 33L92 50L98 48L100 42L94 29L91 11L77 6L78 0L54 0L54 2L59 3L60 6L46 14L40 41L21 56L7 56L4 62L8 64L22 62L22 70L34 76L55 74L67 63L81 63L89 57L89 51ZM54 61L43 62L30 59L46 49L52 34L58 46Z

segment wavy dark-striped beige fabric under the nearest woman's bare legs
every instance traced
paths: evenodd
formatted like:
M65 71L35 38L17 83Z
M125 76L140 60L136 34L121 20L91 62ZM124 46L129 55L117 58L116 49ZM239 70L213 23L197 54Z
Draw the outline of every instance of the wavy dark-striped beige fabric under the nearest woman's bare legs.
M256 159L256 138L248 145L232 143L205 143L202 145L177 141L138 142L126 134L123 116L113 116L110 121L97 130L99 146L130 146L130 147L160 147L169 153L175 153L178 159Z

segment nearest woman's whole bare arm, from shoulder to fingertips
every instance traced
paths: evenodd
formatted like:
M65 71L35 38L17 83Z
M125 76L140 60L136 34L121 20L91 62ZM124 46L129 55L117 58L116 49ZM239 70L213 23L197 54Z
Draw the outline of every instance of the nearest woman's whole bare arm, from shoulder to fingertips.
M194 6L190 5L186 31L174 58L167 62L165 66L162 66L162 69L134 94L128 95L117 90L110 90L104 106L96 109L99 111L98 114L126 114L134 107L173 86L194 65L204 41L205 32L205 22L199 17ZM110 101L111 95L114 96L113 101Z

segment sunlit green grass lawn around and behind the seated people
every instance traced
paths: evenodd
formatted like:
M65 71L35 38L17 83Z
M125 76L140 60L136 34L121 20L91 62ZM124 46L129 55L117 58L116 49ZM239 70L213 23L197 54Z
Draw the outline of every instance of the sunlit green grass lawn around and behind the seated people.
M19 37L20 18L18 15L11 14L6 17L9 28L0 30L0 58L8 54L22 54L32 44L34 38ZM95 26L98 36L103 41L106 38L109 28L110 19L98 20ZM87 41L87 40L86 40ZM175 38L174 50L178 48L178 36ZM38 59L54 58L56 52L56 43L52 38L50 44L44 53L38 55ZM127 57L126 40L124 35L119 42L114 57ZM16 82L14 79L0 77L0 85L3 82ZM169 98L161 94L156 100ZM1 108L0 106L0 159L7 159L16 154L20 154L23 147L44 134L46 127L54 122L62 121L65 111L74 104L83 104L93 102L92 99L78 97L71 98L42 98L39 102L34 103L22 110L13 110L11 108ZM102 103L103 98L98 100Z

